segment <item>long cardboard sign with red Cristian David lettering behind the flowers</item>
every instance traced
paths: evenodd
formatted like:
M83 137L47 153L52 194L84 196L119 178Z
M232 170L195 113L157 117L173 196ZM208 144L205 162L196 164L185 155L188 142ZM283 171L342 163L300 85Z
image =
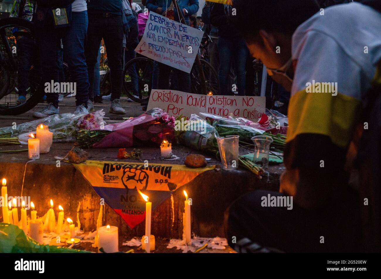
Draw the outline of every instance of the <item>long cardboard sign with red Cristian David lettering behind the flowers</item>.
M147 110L159 107L174 117L192 113L207 112L222 117L232 113L233 117L243 117L251 121L265 113L266 97L199 95L175 90L152 89Z

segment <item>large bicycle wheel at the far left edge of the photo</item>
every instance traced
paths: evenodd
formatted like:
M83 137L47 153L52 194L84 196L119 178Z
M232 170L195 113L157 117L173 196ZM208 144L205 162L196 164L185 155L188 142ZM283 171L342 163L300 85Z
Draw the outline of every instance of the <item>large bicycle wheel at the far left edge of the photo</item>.
M42 98L41 72L36 52L32 57L22 51L21 42L34 45L35 32L31 22L10 17L0 20L0 114L19 115L32 109ZM18 46L19 45L19 46ZM28 59L29 64L25 63ZM25 65L28 68L25 68ZM23 88L26 101L17 103Z

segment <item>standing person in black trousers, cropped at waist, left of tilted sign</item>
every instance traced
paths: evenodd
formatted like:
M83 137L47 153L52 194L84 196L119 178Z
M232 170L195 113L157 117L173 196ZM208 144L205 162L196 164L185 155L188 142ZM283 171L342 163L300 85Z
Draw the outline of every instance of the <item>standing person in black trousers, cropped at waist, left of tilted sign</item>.
M89 25L87 45L85 48L86 63L89 76L89 99L93 101L94 66L98 57L99 44L103 38L106 46L108 66L111 78L111 104L109 112L125 114L120 103L123 86L122 47L123 47L123 22L122 1L91 0L88 3Z

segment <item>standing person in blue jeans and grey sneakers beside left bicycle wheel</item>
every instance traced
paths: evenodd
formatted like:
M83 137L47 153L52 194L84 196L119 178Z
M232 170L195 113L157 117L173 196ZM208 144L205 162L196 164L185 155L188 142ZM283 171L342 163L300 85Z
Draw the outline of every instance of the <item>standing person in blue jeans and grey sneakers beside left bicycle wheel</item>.
M61 39L64 57L69 65L75 88L76 109L74 113L88 113L89 82L85 60L84 45L87 35L86 0L37 0L34 23L42 66L43 84L60 82ZM60 8L60 12L53 13ZM58 94L46 94L48 105L34 112L37 118L59 113Z

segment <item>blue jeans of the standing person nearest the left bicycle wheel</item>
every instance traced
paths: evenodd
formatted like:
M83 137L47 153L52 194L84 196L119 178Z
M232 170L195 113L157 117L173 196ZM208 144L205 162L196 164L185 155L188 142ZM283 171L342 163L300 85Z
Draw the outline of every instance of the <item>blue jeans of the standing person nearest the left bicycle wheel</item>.
M76 105L85 104L87 107L89 81L85 59L85 41L87 37L87 11L72 12L72 21L69 27L54 28L46 25L36 28L38 48L43 72L43 81L60 81L60 52L61 39L64 45L64 57L69 65L72 82L76 84ZM48 93L46 101L58 107L58 93Z

